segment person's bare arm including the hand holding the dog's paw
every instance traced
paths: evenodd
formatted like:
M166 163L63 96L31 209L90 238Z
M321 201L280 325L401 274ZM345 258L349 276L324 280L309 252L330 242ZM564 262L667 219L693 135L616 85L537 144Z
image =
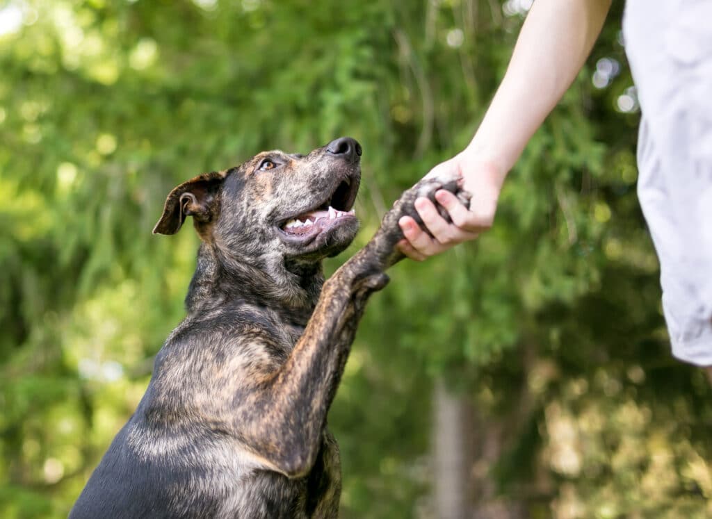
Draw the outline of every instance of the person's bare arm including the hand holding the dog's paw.
M612 0L535 0L515 44L507 72L470 144L431 174L456 174L472 194L470 210L446 191L436 199L449 224L428 199L416 209L433 238L410 216L399 225L399 248L423 260L491 227L499 192L525 145L571 85L601 31Z

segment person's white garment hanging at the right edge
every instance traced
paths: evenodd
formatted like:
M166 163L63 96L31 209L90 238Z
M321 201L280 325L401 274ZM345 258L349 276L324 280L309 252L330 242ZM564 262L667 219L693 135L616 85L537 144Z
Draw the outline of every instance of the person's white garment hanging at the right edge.
M628 0L623 28L672 352L712 365L712 1Z

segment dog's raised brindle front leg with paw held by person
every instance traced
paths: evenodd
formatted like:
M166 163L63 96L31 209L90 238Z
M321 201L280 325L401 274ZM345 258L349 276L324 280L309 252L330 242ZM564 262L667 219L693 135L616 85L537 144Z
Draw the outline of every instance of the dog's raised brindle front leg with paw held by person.
M448 189L468 204L469 197L454 181L428 179L404 192L367 246L324 284L312 318L285 365L266 387L251 395L251 405L261 414L238 416L246 445L274 470L295 477L313 466L367 299L387 284L384 271L403 258L395 248L403 237L398 220L406 214L417 216L415 199L433 198L438 189Z

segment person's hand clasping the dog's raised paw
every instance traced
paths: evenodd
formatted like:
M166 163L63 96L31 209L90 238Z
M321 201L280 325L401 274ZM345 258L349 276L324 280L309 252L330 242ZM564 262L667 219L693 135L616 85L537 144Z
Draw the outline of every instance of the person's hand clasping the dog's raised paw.
M435 199L450 215L451 223L440 216L436 206L426 198L415 201L424 225L432 237L423 231L411 216L403 216L398 224L405 238L398 248L409 258L423 261L457 243L476 238L492 226L504 172L491 162L470 157L465 152L438 164L427 177L456 177L464 180L463 188L472 195L470 209L451 192L440 190Z

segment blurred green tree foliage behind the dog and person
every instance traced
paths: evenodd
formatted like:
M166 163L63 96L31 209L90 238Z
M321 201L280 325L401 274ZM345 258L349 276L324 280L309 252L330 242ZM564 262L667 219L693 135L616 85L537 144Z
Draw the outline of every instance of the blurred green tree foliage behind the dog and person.
M342 517L712 514L712 391L669 352L622 4L494 228L372 298L330 412ZM169 189L355 137L362 231L333 271L466 145L530 5L0 1L0 516L65 517L142 396L198 244L152 236Z

